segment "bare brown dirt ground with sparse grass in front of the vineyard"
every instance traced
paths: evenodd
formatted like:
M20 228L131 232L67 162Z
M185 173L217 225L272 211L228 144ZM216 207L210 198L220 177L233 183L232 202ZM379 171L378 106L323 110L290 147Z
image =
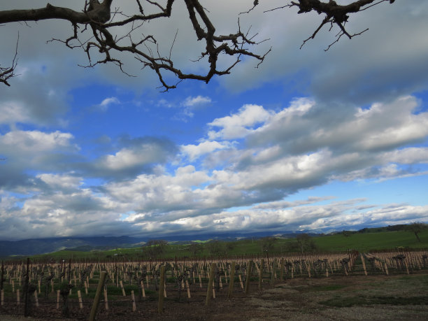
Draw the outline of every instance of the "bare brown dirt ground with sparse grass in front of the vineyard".
M237 287L231 299L224 287L208 306L203 291L183 297L166 298L161 315L156 301L137 301L135 312L129 301L112 302L108 311L101 302L97 320L428 320L426 273L295 278L264 283L262 291L253 283L250 294ZM33 317L24 318L22 306L8 304L0 308L0 320L87 320L89 313L89 304L81 310L72 302L69 319L55 304L34 308Z

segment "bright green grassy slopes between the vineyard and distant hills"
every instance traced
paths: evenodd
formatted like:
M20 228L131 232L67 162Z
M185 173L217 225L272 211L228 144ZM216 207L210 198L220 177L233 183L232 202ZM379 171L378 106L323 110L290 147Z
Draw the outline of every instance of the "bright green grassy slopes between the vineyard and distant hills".
M346 250L359 250L369 252L371 250L386 250L394 248L428 248L428 230L422 231L419 242L411 231L378 231L369 233L354 233L348 236L334 234L315 236L311 238L316 245L315 252L342 252ZM156 259L192 258L192 257L239 257L242 255L265 256L262 251L264 239L245 239L234 242L217 241L217 248L213 252L211 242L199 242L201 250L194 255L190 251L189 244L169 243L164 246L161 255ZM294 245L294 246L293 246ZM269 249L269 255L281 255L287 252L296 252L296 238L276 238ZM94 250L90 252L62 250L45 255L35 255L36 258L54 259L148 259L148 255L141 248L117 248L115 250Z

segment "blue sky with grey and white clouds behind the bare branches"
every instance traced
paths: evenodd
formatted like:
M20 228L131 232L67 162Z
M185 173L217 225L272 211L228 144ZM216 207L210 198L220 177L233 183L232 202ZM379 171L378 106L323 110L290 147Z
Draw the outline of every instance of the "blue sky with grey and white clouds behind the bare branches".
M133 1L114 2L134 10ZM252 4L201 2L218 34L235 32ZM141 34L154 34L167 56L177 33L175 66L204 71L204 61L192 62L203 48L183 3ZM0 10L45 5L3 0ZM322 17L263 12L283 5L260 1L239 15L241 29L266 39L250 50L272 47L258 68L245 58L230 75L169 92L131 56L117 57L133 77L108 64L82 67L85 52L50 41L68 38L69 22L2 25L1 66L19 41L18 76L0 86L0 239L428 222L428 1L350 15L350 33L369 30L327 52L338 30L324 27L300 49Z

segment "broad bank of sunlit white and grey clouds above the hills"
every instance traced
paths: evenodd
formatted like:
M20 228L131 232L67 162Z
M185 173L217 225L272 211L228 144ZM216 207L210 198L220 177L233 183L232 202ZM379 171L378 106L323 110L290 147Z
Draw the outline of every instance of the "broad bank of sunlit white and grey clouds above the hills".
M328 231L343 222L358 228L425 220L424 206L388 208L368 204L369 199L336 201L334 195L287 201L300 190L335 180L425 175L424 167L415 164L428 164L427 148L412 145L428 136L428 112L413 113L418 104L414 97L400 97L348 108L341 122L331 121L334 108L329 114L313 99L294 99L276 111L245 105L209 122L208 139L198 144L177 148L166 138L122 136L113 153L67 166L62 159L50 171L42 166L42 156L53 151L78 155L73 136L60 131L10 131L0 136L4 155L24 156L31 162L25 162L27 167L24 162L1 166L20 173L22 179L16 184L27 186L21 190L27 196L17 199L3 183L1 220L13 225L10 231L38 235L48 234L48 224L57 229L55 235L90 233L90 227L101 221L100 233L113 231L115 222L120 222L119 231L173 234ZM324 117L318 117L320 113ZM38 173L23 176L26 169ZM103 178L104 183L88 187L87 178ZM17 227L10 213L25 223ZM76 223L76 217L82 222Z

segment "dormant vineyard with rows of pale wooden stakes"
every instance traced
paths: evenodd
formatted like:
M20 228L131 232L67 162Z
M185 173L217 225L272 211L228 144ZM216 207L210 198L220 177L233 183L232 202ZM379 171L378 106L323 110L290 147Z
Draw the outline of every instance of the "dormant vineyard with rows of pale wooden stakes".
M1 264L1 315L87 320L206 320L195 311L293 280L427 274L428 252L347 251L278 257L120 260L27 259ZM427 297L422 298L426 304ZM242 306L241 309L245 308ZM240 320L231 318L230 320Z

